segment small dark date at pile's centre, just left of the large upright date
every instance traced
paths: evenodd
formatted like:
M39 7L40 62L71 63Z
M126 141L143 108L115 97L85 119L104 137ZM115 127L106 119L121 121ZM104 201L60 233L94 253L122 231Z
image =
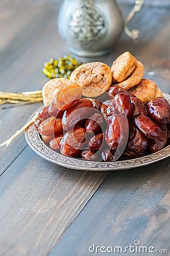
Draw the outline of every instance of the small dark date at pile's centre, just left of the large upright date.
M85 129L89 134L98 134L106 129L105 119L101 113L93 114L85 121Z

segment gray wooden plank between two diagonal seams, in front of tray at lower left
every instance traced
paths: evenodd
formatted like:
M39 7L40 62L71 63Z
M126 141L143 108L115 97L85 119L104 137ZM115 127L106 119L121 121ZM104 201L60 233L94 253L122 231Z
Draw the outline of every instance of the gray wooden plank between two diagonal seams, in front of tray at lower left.
M106 176L56 166L27 147L0 177L0 255L47 255Z

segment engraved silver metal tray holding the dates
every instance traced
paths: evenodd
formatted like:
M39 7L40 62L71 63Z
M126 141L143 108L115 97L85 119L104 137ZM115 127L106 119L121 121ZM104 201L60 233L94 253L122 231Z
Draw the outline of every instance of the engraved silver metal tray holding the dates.
M164 93L164 97L170 102L170 95ZM36 110L35 112L37 112ZM31 115L30 119L34 116L35 112ZM128 170L136 167L147 166L148 164L155 163L159 160L170 156L170 145L163 148L156 153L143 156L142 158L135 158L130 160L122 160L115 162L90 162L82 159L71 158L63 156L58 152L51 150L47 145L42 142L38 131L34 127L34 123L25 131L25 137L28 145L42 158L49 162L59 164L66 168L75 170L86 171L117 171Z

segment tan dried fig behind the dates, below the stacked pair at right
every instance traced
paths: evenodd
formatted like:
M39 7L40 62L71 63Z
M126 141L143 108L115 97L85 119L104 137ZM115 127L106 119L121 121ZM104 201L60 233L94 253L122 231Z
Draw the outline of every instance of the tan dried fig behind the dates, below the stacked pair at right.
M143 104L147 104L155 98L157 85L149 79L142 79L138 85L134 86L128 92L139 98Z

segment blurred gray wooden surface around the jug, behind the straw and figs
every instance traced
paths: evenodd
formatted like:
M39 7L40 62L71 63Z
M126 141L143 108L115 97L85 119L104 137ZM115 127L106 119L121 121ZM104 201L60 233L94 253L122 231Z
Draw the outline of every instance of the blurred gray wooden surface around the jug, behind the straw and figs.
M125 18L134 1L117 2ZM20 91L23 83L26 90L42 88L48 81L42 73L43 63L51 57L69 54L57 28L57 14L62 3L62 0L0 2L0 84L6 82L6 90ZM129 24L130 30L137 28L140 31L137 43L123 32L117 47L109 55L76 58L81 62L99 60L111 65L119 54L130 51L143 62L145 77L155 80L164 92L169 93L169 11L170 0L146 0ZM16 73L22 76L15 77ZM23 76L26 77L24 81Z

